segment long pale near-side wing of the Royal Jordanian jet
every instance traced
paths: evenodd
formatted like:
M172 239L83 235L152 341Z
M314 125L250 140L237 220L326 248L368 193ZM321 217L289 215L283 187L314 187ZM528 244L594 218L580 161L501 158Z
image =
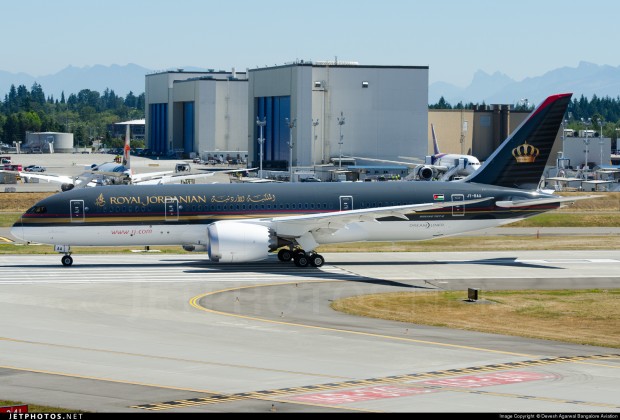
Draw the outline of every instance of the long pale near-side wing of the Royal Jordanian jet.
M408 220L407 214L418 211L440 209L452 206L465 206L492 200L493 197L464 201L446 201L402 206L374 207L369 209L344 210L330 213L305 214L299 216L274 217L269 220L275 225L278 235L299 237L307 232L321 230L336 231L353 222L377 222L383 217L398 217Z

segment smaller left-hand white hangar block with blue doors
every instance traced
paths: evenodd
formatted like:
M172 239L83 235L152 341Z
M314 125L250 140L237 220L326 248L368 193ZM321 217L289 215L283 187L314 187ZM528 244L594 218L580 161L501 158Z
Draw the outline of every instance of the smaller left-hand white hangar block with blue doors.
M248 81L234 70L146 76L147 147L190 154L247 151Z

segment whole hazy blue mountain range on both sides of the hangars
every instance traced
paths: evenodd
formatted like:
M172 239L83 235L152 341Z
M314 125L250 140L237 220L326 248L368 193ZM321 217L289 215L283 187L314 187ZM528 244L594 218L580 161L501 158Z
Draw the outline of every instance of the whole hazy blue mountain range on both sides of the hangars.
M207 71L192 66L183 68ZM153 71L137 64L69 66L56 74L35 78L26 73L0 70L0 100L8 93L11 85L24 85L30 89L34 82L41 85L46 96L53 96L55 99L60 99L63 91L65 97L68 97L82 89L96 90L99 93L111 89L119 96L126 96L131 91L139 95L144 92L145 76ZM527 99L535 106L548 95L565 92L572 92L573 97L577 98L581 95L591 98L594 94L616 98L620 96L620 66L581 62L577 67L562 67L520 82L499 72L490 75L479 70L474 74L471 84L465 88L446 82L432 83L429 86L428 100L430 104L435 104L443 96L450 104L456 105L459 102L516 104L521 99Z

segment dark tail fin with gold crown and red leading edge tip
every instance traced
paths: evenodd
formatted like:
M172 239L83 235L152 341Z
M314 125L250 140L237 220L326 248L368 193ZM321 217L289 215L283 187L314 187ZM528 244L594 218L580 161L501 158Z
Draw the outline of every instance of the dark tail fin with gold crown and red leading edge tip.
M549 96L465 182L536 189L572 93Z

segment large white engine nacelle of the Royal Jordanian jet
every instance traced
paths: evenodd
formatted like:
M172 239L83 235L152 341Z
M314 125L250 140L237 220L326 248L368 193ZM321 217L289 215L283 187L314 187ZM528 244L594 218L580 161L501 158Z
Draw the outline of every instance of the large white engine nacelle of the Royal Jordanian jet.
M277 238L266 226L239 222L215 222L207 227L209 259L239 263L264 260L277 248Z

